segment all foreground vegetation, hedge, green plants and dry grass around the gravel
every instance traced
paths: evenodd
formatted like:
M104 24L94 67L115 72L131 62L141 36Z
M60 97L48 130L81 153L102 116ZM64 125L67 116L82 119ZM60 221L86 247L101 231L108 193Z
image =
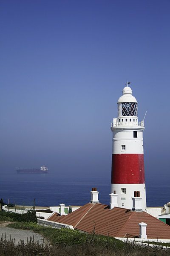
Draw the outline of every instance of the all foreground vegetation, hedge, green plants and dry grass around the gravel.
M0 212L0 220L14 221L15 213ZM25 214L22 214L25 215ZM21 217L21 216L20 216ZM36 222L15 222L8 225L16 229L32 230L48 239L50 244L39 244L34 237L24 243L0 240L0 256L167 256L170 250L159 247L139 246L135 242L123 243L109 236L80 233L77 230L54 229L38 225Z

